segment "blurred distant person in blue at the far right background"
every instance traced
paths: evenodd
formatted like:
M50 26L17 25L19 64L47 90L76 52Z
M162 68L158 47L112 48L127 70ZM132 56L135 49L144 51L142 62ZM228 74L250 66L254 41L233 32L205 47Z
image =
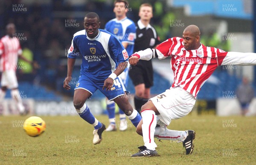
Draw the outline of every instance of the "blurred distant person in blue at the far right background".
M243 77L242 83L238 86L236 90L237 99L241 105L241 114L243 116L247 115L249 110L250 102L254 97L253 86L250 85L247 77Z

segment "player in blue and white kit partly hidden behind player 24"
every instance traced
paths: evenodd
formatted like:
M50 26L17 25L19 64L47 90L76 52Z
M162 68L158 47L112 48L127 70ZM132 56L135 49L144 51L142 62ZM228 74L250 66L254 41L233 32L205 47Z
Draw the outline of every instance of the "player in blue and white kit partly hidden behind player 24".
M108 21L105 25L105 30L114 34L118 40L122 43L122 46L126 49L128 55L133 54L134 51L134 39L136 36L135 23L126 17L128 12L128 2L126 0L115 0L113 12L116 18ZM119 76L125 87L128 85L128 71L129 64L125 71ZM116 119L115 119L115 102L107 100L107 110L110 125L106 131L116 131ZM119 130L125 131L127 129L127 121L124 112L119 108Z

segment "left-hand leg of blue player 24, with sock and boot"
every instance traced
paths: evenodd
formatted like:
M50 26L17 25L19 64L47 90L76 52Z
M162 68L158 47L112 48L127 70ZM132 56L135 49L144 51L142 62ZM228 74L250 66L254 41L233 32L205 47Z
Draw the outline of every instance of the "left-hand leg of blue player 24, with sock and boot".
M85 104L85 101L91 96L92 94L84 89L76 89L74 93L74 106L76 111L80 115L82 119L87 121L89 124L93 125L93 144L99 144L102 141L102 132L106 129L105 125L99 122L93 114L90 113L90 109Z

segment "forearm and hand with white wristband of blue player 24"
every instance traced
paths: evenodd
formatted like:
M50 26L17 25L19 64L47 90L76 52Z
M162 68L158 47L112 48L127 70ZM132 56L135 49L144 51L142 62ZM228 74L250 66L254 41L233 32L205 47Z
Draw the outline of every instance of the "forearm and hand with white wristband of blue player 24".
M104 90L106 88L107 91L111 90L114 80L127 68L127 65L128 63L126 61L119 63L116 70L104 81L102 89Z

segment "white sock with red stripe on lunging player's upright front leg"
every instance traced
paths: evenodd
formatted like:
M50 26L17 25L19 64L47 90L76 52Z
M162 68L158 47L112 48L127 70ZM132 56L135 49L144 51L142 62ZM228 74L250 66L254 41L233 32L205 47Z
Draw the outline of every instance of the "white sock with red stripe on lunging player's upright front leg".
M157 144L154 142L154 132L157 125L156 114L154 111L145 110L142 111L141 117L143 120L142 132L145 146L150 150L155 150L157 147Z

